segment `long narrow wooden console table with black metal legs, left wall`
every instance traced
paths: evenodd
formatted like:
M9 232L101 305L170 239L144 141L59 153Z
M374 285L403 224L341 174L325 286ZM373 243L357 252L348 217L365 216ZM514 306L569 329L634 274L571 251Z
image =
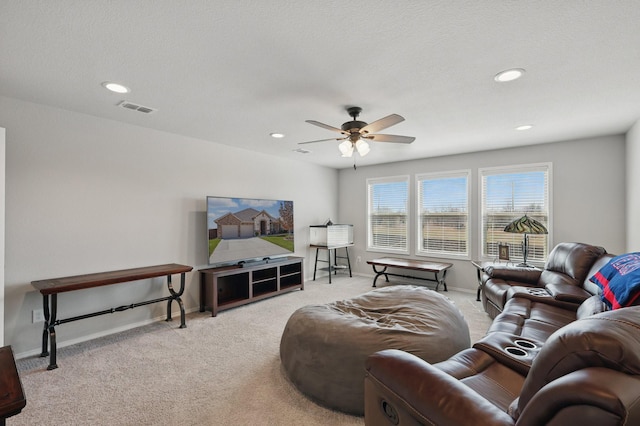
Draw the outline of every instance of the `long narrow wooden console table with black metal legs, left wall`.
M193 267L186 265L178 265L170 263L166 265L147 266L143 268L123 269L119 271L99 272L96 274L75 275L71 277L52 278L48 280L32 281L33 285L42 294L42 306L44 309L44 330L42 331L42 354L45 357L49 355L48 342L51 344L51 356L49 358L49 366L47 370L58 368L56 364L56 330L55 326L65 324L71 321L77 321L85 318L91 318L98 315L112 314L114 312L125 311L138 306L149 305L167 301L167 321L171 321L171 302L174 300L180 307L180 328L185 328L184 305L182 303L182 293L184 292L185 273L191 271ZM180 274L180 290L173 290L171 285L171 275ZM167 276L167 287L170 295L159 299L147 300L144 302L133 303L131 305L119 306L117 308L105 309L103 311L93 312L90 314L79 315L76 317L58 319L58 293L69 291L83 290L86 288L101 287L111 284L120 284L131 281L139 281L148 278Z

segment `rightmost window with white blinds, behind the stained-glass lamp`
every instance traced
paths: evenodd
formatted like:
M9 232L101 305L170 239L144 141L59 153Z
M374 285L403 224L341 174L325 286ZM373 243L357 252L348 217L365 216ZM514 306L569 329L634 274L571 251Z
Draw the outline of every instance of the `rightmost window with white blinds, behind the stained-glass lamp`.
M509 244L511 261L523 258L523 234L504 232L504 227L525 214L550 230L551 164L480 169L483 257L498 257L498 245ZM548 235L529 235L527 261L547 259Z

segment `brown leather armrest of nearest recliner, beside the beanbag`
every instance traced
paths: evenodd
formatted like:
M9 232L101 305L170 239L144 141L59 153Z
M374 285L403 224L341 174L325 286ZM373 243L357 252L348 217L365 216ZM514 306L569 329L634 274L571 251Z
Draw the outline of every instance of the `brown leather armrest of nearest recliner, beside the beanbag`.
M513 425L474 390L407 352L388 349L366 362L365 424Z

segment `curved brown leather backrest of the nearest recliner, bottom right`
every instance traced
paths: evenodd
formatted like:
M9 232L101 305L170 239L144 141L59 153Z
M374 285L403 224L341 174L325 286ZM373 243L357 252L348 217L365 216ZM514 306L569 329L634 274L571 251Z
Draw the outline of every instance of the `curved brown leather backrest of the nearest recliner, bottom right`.
M533 361L518 412L548 383L589 367L640 374L640 307L582 318L553 333Z

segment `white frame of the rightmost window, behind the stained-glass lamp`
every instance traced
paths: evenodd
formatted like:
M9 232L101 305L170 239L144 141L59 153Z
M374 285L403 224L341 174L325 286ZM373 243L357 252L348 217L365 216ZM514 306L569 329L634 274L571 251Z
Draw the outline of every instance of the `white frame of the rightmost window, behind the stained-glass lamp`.
M478 204L479 204L479 214L478 214L478 228L479 228L479 240L478 240L478 254L483 260L496 260L498 258L498 254L492 255L488 252L485 252L485 248L487 245L485 244L485 191L484 191L484 179L485 176L495 176L500 174L517 174L517 173L530 173L530 172L545 172L546 173L546 215L547 215L547 223L546 228L549 233L546 235L546 247L544 250L543 259L540 258L532 258L531 256L527 258L527 262L542 266L548 258L549 251L551 250L551 242L553 241L553 163L552 162L544 162L544 163L530 163L530 164L519 164L519 165L509 165L509 166L498 166L498 167L483 167L478 169ZM521 215L522 212L514 213L514 219L516 219L516 215ZM513 240L516 243L511 244L511 253L510 253L510 261L511 262L521 262L522 256L515 255L516 250L513 250L513 246L519 246L519 241L522 241L524 235L522 234L513 234ZM530 238L535 238L537 236L530 235Z

